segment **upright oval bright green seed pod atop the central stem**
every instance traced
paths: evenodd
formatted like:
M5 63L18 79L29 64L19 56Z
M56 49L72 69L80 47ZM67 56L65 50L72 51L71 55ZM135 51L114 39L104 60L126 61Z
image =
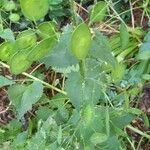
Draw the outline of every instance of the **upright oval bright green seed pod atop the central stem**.
M71 38L71 50L80 60L87 57L92 42L92 36L88 25L80 24L73 32Z

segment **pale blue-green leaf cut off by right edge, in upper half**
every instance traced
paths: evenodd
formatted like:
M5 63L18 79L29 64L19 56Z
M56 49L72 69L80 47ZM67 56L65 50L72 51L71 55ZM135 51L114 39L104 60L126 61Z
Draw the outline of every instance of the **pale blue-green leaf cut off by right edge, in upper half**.
M150 42L141 45L137 58L141 60L148 60L150 58Z

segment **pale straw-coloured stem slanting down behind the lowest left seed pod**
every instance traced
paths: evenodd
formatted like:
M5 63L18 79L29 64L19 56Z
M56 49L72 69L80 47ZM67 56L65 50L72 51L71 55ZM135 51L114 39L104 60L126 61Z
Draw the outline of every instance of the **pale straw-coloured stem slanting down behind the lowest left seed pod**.
M1 64L3 67L5 67L5 68L10 69L10 67L9 67L7 64L5 64L5 63L3 63L3 62L1 62L1 61L0 61L0 64ZM53 89L53 90L55 90L55 91L57 91L57 92L59 92L59 93L61 93L61 94L67 95L67 93L66 93L65 91L60 90L60 89L58 89L57 87L55 87L55 86L53 86L53 85L51 85L51 84L49 84L49 83L47 83L47 82L45 82L45 81L39 79L39 78L36 78L36 77L32 76L31 74L28 74L28 73L26 73L26 72L23 72L22 75L24 75L24 76L26 76L26 77L28 77L28 78L31 78L31 79L33 79L33 80L35 80L35 81L41 82L41 83L42 83L43 85L45 85L46 87L48 87L48 88L50 88L50 89Z

